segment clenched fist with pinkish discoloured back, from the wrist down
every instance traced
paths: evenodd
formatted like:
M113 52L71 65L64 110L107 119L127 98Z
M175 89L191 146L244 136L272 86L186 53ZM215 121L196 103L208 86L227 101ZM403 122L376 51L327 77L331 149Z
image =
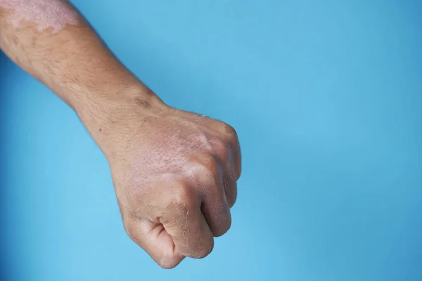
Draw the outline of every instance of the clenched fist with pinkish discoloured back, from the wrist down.
M210 254L213 237L229 230L241 152L223 122L140 104L108 131L115 145L106 156L127 234L162 268L174 268L185 256Z

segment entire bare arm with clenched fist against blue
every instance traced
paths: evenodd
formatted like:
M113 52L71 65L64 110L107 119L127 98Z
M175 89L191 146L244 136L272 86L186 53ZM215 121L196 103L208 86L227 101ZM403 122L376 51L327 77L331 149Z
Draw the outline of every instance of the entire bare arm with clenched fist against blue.
M0 48L82 120L136 244L162 268L210 254L230 228L241 174L231 126L166 105L68 1L0 0Z

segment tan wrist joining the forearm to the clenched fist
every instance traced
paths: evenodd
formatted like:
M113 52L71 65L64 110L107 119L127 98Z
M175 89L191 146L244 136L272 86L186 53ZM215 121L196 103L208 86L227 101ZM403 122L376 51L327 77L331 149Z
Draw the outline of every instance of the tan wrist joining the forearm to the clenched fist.
M127 136L141 133L141 125L167 105L148 87L137 82L107 93L90 93L75 105L77 115L108 157L127 147Z

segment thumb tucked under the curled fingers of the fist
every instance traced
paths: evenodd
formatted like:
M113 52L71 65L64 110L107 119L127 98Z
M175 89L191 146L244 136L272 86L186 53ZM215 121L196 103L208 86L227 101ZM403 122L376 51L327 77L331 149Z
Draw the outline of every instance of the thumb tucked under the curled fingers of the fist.
M174 268L184 259L161 223L132 219L125 228L129 237L162 268Z

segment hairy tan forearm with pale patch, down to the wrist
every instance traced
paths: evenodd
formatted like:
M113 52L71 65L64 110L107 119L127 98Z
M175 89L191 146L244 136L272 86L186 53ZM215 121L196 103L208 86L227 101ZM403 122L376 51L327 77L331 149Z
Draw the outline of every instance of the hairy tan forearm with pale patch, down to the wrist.
M159 100L68 1L0 0L0 48L65 100L97 142L130 118L126 107Z

